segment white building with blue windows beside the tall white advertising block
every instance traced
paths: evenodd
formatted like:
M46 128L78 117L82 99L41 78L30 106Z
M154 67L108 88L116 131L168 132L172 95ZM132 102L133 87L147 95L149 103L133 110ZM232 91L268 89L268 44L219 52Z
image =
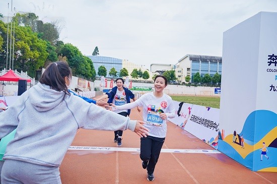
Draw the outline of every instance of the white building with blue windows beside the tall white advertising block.
M176 64L175 74L179 82L185 82L185 77L190 76L193 82L193 75L197 72L203 77L209 73L211 77L222 71L222 57L187 54L179 59Z

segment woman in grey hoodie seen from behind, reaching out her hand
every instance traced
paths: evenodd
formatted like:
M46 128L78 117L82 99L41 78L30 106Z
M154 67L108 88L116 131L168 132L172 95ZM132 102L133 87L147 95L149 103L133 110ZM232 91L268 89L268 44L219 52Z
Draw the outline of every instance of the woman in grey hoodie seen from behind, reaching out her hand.
M143 121L130 120L71 95L67 90L71 78L67 63L51 63L39 83L1 113L0 138L17 128L3 157L3 184L61 183L58 167L79 128L129 129L140 137L148 135Z

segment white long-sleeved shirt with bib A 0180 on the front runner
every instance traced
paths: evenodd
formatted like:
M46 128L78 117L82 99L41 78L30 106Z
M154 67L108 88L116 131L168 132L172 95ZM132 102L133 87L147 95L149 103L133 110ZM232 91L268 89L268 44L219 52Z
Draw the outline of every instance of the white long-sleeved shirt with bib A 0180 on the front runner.
M149 135L153 137L166 137L167 124L166 120L159 117L159 112L166 113L168 118L175 117L175 109L171 97L163 94L161 98L154 96L153 92L144 94L135 102L124 106L116 107L117 109L132 109L136 106L143 107L143 119L146 128L150 130ZM153 125L154 124L154 125Z

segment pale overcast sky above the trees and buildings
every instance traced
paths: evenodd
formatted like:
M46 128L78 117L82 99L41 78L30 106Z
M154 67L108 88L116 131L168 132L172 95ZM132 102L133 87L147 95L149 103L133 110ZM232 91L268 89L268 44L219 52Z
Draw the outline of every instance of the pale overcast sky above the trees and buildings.
M277 0L0 0L0 13L11 14L11 4L58 21L59 39L84 55L97 46L100 56L148 69L186 54L222 56L225 31L259 12L277 12Z

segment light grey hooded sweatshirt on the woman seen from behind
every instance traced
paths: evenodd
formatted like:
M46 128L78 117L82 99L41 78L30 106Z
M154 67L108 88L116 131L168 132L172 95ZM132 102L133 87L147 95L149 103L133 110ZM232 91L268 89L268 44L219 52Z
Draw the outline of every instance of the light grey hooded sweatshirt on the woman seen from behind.
M3 159L59 166L79 128L134 131L136 121L38 83L0 115L0 138L17 129Z

